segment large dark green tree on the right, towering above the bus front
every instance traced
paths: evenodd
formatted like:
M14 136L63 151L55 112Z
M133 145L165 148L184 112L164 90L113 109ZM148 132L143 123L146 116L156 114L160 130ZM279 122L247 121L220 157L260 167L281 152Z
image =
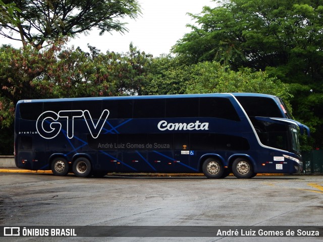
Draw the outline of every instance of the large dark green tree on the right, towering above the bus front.
M172 51L192 63L266 70L269 77L292 84L294 116L314 131L315 146L322 148L322 14L321 0L225 1L191 14L198 26L191 26Z

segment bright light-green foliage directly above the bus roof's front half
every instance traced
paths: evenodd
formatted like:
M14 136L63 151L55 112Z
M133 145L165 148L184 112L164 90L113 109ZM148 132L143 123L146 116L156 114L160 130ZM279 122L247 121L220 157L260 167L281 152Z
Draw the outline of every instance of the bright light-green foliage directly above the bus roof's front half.
M253 92L273 94L290 100L287 84L266 72L243 68L238 72L219 62L184 65L181 56L153 59L144 94Z

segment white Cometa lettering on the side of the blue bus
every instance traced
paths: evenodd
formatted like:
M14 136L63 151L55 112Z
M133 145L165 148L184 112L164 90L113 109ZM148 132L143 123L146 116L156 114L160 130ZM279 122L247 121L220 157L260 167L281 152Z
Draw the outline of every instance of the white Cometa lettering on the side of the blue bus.
M157 125L161 131L165 130L208 130L208 123L201 123L197 120L195 123L167 123L166 120L162 120Z

